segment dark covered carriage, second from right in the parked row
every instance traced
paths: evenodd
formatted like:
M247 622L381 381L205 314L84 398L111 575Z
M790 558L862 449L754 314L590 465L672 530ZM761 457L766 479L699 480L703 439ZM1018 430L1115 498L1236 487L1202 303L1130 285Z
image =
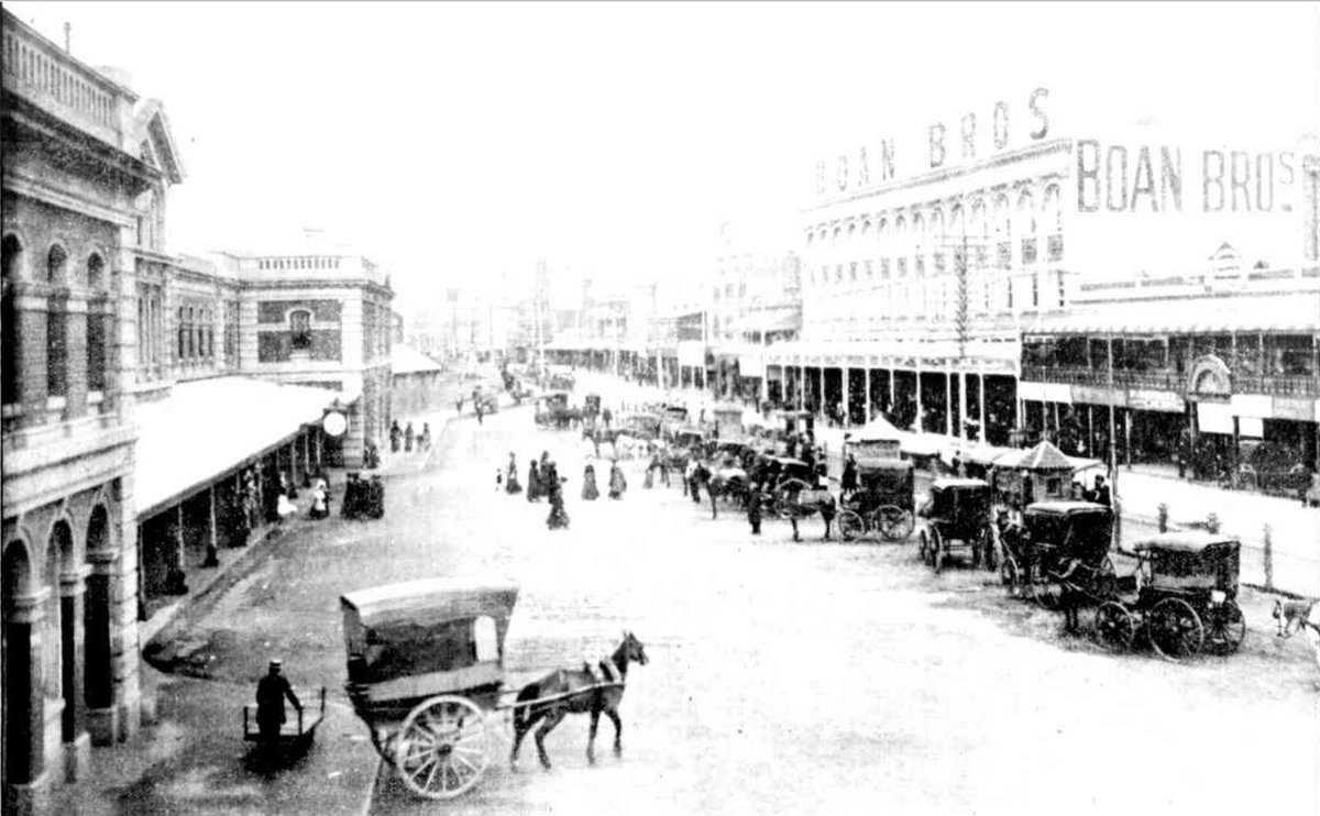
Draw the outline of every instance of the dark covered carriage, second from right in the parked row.
M1020 527L1001 533L999 578L1008 594L1056 606L1063 586L1055 576L1077 561L1073 582L1086 595L1113 593L1114 562L1109 559L1114 511L1093 502L1028 504Z

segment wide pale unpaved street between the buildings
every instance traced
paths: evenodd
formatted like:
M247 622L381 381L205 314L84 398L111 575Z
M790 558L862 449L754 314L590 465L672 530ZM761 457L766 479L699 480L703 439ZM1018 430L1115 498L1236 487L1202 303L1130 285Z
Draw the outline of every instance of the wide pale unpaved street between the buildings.
M525 475L546 449L570 479L569 531L494 486L511 450ZM182 651L222 681L255 679L279 651L296 681L342 701L341 593L474 572L521 585L511 683L603 656L624 629L645 643L622 759L602 720L587 767L576 717L546 742L550 772L528 741L519 772L496 757L453 803L381 776L376 813L1320 811L1315 668L1300 643L1274 643L1254 594L1239 655L1114 658L1061 639L1057 617L1003 598L990 573L936 577L913 544L822 544L818 519L803 544L774 520L755 540L677 482L642 490L635 462L622 502L582 502L583 454L527 409L454 424L389 481L384 520L334 518L279 541ZM322 739L362 739L334 717Z

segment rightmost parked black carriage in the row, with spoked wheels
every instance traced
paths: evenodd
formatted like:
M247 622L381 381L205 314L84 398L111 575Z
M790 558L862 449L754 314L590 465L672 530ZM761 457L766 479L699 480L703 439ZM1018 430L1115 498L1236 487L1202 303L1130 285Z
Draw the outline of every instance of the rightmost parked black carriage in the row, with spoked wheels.
M1137 569L1114 584L1096 610L1096 639L1111 651L1142 634L1162 656L1203 650L1228 655L1246 636L1237 605L1241 544L1204 531L1166 532L1139 541Z

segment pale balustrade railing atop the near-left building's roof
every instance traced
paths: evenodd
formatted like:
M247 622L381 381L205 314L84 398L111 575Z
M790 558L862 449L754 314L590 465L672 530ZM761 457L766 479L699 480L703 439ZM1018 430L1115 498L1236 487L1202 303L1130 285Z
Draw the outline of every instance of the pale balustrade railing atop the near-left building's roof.
M131 104L96 71L5 15L4 86L115 147L120 144L120 104Z

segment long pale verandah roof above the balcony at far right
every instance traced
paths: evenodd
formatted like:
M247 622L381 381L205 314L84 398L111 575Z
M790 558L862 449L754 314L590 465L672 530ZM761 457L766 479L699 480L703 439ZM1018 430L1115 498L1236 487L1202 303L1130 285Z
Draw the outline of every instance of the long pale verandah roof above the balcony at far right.
M1041 317L1024 334L1216 334L1320 331L1320 289L1288 294L1233 294L1109 302Z

